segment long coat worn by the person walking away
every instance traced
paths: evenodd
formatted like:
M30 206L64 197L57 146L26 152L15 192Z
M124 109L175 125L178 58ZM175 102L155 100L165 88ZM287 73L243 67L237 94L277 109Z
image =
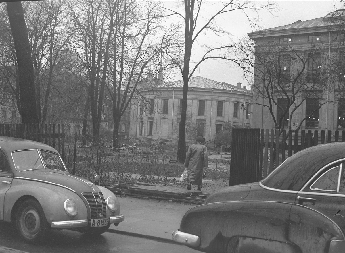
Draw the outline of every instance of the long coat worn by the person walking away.
M188 180L192 184L201 185L203 180L203 169L208 168L207 147L201 142L189 146L185 168L188 168Z

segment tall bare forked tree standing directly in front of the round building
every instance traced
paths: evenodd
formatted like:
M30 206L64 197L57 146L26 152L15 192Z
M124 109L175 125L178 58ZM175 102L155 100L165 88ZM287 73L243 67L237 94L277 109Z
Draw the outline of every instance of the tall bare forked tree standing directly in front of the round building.
M209 9L203 10L202 7L207 8L203 4L203 1L195 0L185 0L185 15L182 15L178 12L173 11L178 16L183 18L185 24L185 41L184 41L184 58L181 62L178 58L172 56L172 61L177 65L178 69L181 72L184 81L183 87L183 98L182 98L182 113L181 121L179 128L179 138L178 138L178 149L177 149L177 161L184 162L186 159L186 112L187 112L187 97L188 97L188 82L189 79L193 76L194 72L198 66L208 59L222 59L228 62L232 62L237 67L242 69L244 72L248 72L248 56L247 52L249 48L253 45L253 42L250 42L247 39L238 39L237 42L230 42L226 45L220 44L217 47L212 47L208 45L206 51L201 57L200 60L196 61L194 67L190 69L190 64L192 61L191 55L193 50L193 45L197 42L198 37L202 33L211 32L214 38L217 38L221 35L229 36L230 33L224 31L219 26L216 25L216 18L218 16L224 16L224 14L233 11L242 11L245 13L245 18L249 21L252 27L255 27L255 20L250 18L246 11L254 10L258 11L259 9L270 10L274 8L274 5L270 2L263 3L262 6L258 6L256 2L248 1L229 1L229 3L219 2L219 10L215 11L214 14L211 14L209 18L205 18ZM198 25L198 20L205 20L201 26ZM201 22L200 20L200 22Z

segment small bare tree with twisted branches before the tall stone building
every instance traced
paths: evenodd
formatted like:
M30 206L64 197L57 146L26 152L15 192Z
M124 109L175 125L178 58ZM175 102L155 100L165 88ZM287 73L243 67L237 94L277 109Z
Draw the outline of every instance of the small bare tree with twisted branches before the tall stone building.
M305 121L308 125L318 125L315 113L322 105L334 101L325 95L325 91L335 87L338 92L342 90L337 85L338 68L342 68L336 56L338 54L329 55L328 49L316 47L308 52L276 42L256 46L252 85L256 94L254 104L268 109L275 129L279 129L280 133L288 128L286 139L292 132L299 130ZM306 100L311 102L312 109L308 110L304 118L296 121L294 115Z

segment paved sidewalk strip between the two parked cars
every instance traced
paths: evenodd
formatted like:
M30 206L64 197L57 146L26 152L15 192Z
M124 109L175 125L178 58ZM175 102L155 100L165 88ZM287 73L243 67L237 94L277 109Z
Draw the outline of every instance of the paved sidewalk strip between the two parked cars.
M171 234L180 227L183 215L195 204L167 200L138 199L118 196L121 214L125 221L108 232L140 236L173 242Z

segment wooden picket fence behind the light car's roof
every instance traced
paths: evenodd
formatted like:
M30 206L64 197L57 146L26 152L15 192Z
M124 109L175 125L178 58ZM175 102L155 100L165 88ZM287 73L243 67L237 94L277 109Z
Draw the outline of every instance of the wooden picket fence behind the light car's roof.
M0 135L45 143L65 159L63 124L0 124Z

